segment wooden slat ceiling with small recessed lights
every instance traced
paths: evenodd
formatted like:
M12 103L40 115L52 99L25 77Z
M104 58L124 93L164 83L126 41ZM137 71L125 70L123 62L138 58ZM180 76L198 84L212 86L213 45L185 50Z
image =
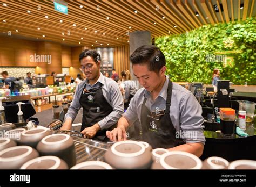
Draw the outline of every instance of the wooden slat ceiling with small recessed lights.
M10 37L20 35L72 46L106 47L107 44L109 47L124 46L129 45L128 32L148 30L151 31L152 37L157 37L184 33L205 24L255 17L254 2L254 0L73 0L66 1L68 15L65 15L54 10L53 0L0 0L0 34L8 35L8 31L11 31ZM218 6L222 4L224 11L215 12L213 5L216 4ZM240 9L241 4L244 9ZM80 8L80 5L83 7ZM28 13L28 10L31 12ZM135 10L138 12L135 13ZM196 12L199 16L196 16ZM49 18L46 19L45 16ZM107 17L109 19L106 19ZM60 23L60 20L63 20L63 23ZM38 27L40 30L37 29ZM69 31L70 35L67 34Z

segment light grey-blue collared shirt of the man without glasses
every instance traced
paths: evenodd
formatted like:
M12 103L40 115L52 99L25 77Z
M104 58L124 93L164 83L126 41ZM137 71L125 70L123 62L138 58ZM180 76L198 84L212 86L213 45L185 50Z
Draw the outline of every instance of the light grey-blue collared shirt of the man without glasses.
M139 119L140 123L145 120L145 117L140 116L144 98L147 99L145 106L150 111L165 110L167 88L168 78L166 77L164 86L155 100L152 99L151 93L145 88L139 89L131 99L129 108L123 116L130 124L134 123L136 119ZM186 143L205 142L203 133L204 118L201 114L202 108L196 97L181 85L173 83L170 118L176 130L176 135L180 135L179 138L183 138ZM185 135L182 136L183 133Z

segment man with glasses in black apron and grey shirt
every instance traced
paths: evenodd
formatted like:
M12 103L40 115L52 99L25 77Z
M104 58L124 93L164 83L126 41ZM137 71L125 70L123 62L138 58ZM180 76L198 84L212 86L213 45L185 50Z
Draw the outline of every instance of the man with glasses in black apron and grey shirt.
M100 55L85 50L79 61L86 80L81 82L65 115L62 130L71 130L80 107L83 108L81 131L86 138L108 141L106 130L116 127L124 113L123 97L118 84L100 73Z

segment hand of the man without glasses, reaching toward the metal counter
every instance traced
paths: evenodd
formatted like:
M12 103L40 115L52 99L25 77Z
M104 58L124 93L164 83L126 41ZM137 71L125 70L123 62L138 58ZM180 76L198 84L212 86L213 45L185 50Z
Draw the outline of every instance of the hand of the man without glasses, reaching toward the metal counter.
M114 128L112 131L107 131L106 136L111 141L127 140L125 127L123 125L119 125L117 128Z

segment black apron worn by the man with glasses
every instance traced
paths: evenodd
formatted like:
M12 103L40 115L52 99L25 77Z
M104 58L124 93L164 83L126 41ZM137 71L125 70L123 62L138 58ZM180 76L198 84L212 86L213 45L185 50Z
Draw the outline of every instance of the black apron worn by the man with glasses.
M103 84L100 83L99 88L94 88L89 91L85 89L86 84L84 86L84 91L79 100L80 105L83 107L81 131L87 127L95 125L98 121L102 120L113 111L112 106L107 103L103 96L102 85ZM106 138L106 131L112 130L114 127L116 127L116 125L111 126L109 129L98 131L93 139L105 142L108 141L109 139Z

